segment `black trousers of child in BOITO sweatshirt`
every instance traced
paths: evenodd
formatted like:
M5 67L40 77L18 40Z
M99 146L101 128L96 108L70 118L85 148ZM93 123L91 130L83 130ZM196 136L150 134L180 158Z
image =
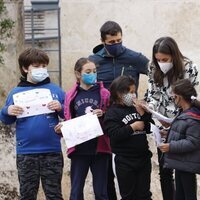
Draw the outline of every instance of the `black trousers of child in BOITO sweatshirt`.
M151 200L151 159L116 156L114 161L121 200Z

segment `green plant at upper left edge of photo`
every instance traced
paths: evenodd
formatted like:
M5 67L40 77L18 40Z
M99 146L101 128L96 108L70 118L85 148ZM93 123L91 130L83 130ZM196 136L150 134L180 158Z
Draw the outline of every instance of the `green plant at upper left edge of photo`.
M6 50L5 41L12 37L15 22L7 18L7 10L3 0L0 0L0 64L4 63L2 53Z

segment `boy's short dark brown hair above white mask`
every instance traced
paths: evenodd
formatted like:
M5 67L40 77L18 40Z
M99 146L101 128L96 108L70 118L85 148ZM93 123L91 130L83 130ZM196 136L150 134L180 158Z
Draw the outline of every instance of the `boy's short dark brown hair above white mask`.
M28 69L31 64L49 64L48 55L40 49L28 48L23 51L18 58L19 69L22 76L26 77L27 73L24 72L23 68Z

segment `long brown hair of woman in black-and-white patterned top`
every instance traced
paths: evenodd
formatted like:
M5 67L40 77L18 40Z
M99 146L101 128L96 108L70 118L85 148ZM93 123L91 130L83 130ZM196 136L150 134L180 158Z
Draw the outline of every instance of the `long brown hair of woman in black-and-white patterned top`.
M173 68L166 74L170 85L184 77L184 59L186 57L182 55L173 38L161 37L155 41L152 50L152 65L155 66L154 81L158 86L163 86L165 74L160 70L155 57L156 53L163 53L172 57Z

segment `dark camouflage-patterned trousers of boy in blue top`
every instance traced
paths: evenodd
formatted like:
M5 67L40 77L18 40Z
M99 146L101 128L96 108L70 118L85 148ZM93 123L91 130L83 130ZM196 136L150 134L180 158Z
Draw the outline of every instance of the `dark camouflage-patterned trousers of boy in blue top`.
M17 155L20 200L36 200L40 179L46 200L63 200L62 153Z

